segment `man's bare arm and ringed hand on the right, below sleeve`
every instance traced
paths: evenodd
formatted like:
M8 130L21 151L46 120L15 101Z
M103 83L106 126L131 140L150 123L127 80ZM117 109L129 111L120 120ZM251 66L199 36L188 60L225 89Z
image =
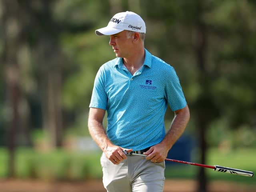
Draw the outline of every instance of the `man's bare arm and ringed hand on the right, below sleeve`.
M184 132L190 119L188 105L180 110L176 110L174 113L175 116L172 120L170 130L167 132L164 139L159 144L152 146L147 152L144 152L145 155L148 155L146 157L147 160L151 160L152 162L164 161L170 148L172 148L174 143Z

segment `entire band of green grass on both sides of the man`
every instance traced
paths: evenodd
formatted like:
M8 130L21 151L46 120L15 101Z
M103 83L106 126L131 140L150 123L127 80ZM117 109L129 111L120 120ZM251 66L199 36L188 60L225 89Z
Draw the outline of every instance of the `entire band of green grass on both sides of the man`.
M216 148L208 151L208 165L220 165L256 172L256 150L243 148L221 153ZM56 150L49 153L39 153L31 148L19 148L16 151L16 177L39 178L44 180L83 180L86 178L102 178L100 166L101 152L67 152ZM191 160L198 162L198 160ZM8 151L0 148L0 177L8 173ZM253 178L215 172L205 168L209 180L222 180L255 184ZM166 164L166 178L196 179L199 167L172 163Z

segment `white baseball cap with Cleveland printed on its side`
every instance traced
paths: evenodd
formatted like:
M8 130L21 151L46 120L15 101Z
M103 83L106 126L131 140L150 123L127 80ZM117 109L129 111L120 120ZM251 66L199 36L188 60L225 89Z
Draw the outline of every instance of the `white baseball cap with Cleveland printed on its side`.
M126 11L115 14L108 26L97 29L95 33L96 35L113 35L123 30L146 33L146 25L138 14Z

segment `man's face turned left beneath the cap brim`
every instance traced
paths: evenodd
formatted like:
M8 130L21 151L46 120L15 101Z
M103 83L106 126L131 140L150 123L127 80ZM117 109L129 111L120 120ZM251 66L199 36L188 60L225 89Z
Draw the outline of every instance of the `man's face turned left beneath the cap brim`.
M112 46L116 57L126 58L132 49L132 37L127 38L126 31L110 35L109 45Z

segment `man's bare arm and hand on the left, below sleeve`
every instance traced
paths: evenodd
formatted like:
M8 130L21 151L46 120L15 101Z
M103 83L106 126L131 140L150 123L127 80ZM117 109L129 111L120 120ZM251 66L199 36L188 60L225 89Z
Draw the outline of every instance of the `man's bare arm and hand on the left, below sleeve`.
M88 118L88 129L92 139L104 152L106 157L114 164L119 164L122 160L126 159L126 155L123 150L131 152L132 149L124 149L119 146L112 144L108 139L106 132L103 127L103 118L105 110L99 108L90 108Z

